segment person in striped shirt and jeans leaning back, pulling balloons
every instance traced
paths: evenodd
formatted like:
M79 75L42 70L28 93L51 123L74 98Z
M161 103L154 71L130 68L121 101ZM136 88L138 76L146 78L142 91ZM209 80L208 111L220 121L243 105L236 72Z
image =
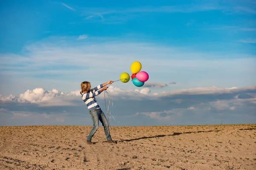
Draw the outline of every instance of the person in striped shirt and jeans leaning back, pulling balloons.
M97 87L95 87L93 89L91 89L90 82L82 82L81 83L80 94L82 95L82 99L83 99L84 103L87 105L87 108L89 109L90 116L93 120L93 128L90 131L90 134L87 136L88 144L93 144L91 142L91 139L92 139L94 133L99 128L99 121L104 126L104 131L105 131L105 135L107 137L107 142L114 143L111 138L111 135L110 135L109 125L108 125L106 116L103 113L103 111L101 110L101 108L99 107L97 100L95 99L95 96L101 94L102 91L108 89L108 87L105 87L106 85L112 84L112 83L113 83L113 81L108 81L104 84L98 85Z

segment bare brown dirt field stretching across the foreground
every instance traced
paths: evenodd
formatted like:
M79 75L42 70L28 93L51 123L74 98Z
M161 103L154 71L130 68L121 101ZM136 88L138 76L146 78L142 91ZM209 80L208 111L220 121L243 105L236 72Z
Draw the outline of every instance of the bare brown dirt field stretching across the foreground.
M1 170L253 170L256 125L0 127Z

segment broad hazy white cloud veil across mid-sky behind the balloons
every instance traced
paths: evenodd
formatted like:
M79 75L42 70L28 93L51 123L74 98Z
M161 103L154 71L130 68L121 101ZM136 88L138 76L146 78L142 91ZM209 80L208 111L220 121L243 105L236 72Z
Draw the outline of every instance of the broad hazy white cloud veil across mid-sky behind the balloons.
M163 87L164 84L155 82L165 82L167 77L179 82L179 87L166 86L167 90L195 85L235 84L241 87L255 84L255 56L222 54L216 59L215 54L199 53L187 48L133 43L128 40L125 42L111 37L90 37L90 41L77 41L77 38L48 37L24 47L23 54L0 54L0 69L3 69L0 75L5 78L5 81L0 81L1 87L5 87L0 90L0 94L6 95L6 91L12 91L17 95L26 88L36 87L71 91L79 88L84 79L92 84L102 83L101 79L117 80L122 72L131 74L131 63L137 60L142 63L143 71L147 71L150 76L145 87ZM101 62L88 64L95 59ZM221 74L224 71L226 74ZM85 77L85 72L94 74ZM101 79L96 79L95 75L101 75ZM227 77L237 78L228 80ZM26 82L31 83L27 85ZM17 83L23 88L15 88ZM131 81L115 82L114 85L118 88L136 88ZM152 92L160 90L151 89Z

